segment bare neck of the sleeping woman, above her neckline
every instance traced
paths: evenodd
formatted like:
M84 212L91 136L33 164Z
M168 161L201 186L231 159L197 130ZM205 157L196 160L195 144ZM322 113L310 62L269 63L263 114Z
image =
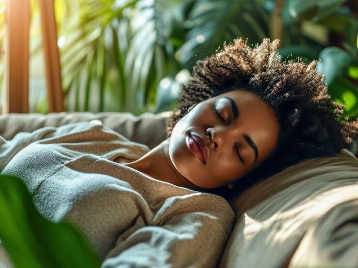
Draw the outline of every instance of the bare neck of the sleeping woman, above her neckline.
M140 159L125 164L146 175L186 188L197 188L176 169L169 156L170 138L164 140Z

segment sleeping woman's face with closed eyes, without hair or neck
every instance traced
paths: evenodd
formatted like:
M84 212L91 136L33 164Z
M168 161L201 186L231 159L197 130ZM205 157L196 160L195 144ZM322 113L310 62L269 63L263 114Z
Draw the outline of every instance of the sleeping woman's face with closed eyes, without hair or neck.
M201 188L243 177L275 149L277 119L257 95L234 90L202 101L175 125L169 155L176 169Z

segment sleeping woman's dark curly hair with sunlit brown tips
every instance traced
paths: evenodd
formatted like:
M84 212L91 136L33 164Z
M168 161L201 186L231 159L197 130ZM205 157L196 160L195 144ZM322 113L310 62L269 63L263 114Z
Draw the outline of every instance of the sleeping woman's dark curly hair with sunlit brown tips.
M272 108L279 125L277 149L268 159L237 180L232 191L222 187L207 192L229 198L303 159L350 148L358 138L358 120L348 120L344 105L328 95L325 75L316 71L318 61L285 63L278 44L279 40L264 39L251 48L242 38L224 44L221 51L198 60L189 82L181 85L179 103L166 121L167 137L190 106L231 90L259 96Z

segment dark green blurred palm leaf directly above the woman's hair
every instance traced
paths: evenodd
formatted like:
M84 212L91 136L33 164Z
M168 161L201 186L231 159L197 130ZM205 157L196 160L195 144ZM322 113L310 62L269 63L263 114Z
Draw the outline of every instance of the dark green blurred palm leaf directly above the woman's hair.
M269 18L256 1L197 0L186 21L185 43L177 52L179 60L190 69L196 60L212 55L218 46L234 38L248 37L258 43L268 37Z

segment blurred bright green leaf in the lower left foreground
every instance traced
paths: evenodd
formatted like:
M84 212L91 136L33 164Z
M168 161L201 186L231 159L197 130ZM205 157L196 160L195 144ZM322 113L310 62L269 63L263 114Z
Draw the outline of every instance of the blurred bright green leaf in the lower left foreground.
M0 176L0 238L15 267L99 267L80 232L43 218L23 182Z

